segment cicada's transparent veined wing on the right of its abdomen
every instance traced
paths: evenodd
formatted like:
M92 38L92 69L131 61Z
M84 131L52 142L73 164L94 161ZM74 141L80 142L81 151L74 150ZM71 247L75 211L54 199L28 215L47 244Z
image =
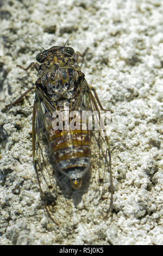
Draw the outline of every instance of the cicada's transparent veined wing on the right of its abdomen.
M111 153L107 130L105 127L104 118L102 113L106 114L107 111L102 108L101 103L97 97L96 91L87 85L86 80L83 81L83 103L85 109L89 111L90 117L87 118L87 126L92 123L91 129L91 152L92 152L92 180L94 183L94 198L95 204L103 201L101 209L102 214L106 217L112 207L113 197L113 184L112 184L112 171L111 171ZM105 113L104 113L105 112ZM94 171L93 171L94 170ZM91 192L92 193L92 192ZM88 197L87 197L88 198ZM90 201L93 200L90 197ZM101 206L100 206L101 207ZM100 211L99 209L97 211Z

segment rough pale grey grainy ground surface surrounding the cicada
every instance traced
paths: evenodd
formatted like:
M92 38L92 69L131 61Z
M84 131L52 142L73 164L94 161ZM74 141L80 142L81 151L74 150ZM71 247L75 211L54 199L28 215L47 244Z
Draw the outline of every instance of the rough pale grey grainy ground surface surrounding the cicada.
M161 0L1 1L0 104L36 80L18 68L42 49L84 52L83 72L111 114L112 218L65 184L59 226L45 215L32 163L34 94L1 112L1 245L162 245L163 2ZM1 50L2 50L1 45ZM2 53L1 53L2 55ZM75 200L79 198L80 200ZM93 204L93 203L95 204Z

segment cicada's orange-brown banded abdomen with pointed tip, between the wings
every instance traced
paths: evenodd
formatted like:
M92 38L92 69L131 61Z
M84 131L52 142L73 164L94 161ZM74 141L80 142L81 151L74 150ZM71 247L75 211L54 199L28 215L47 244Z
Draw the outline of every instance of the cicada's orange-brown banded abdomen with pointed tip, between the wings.
M61 117L65 114L65 111L60 112L60 108L57 112ZM72 187L77 189L82 183L85 172L91 166L90 130L71 129L71 127L58 129L54 126L54 121L52 126L48 127L48 136L55 168L70 178Z

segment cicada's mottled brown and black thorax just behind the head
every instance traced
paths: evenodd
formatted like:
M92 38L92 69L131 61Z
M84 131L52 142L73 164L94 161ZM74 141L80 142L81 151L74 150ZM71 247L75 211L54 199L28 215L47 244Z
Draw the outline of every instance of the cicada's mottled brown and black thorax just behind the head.
M80 80L83 79L77 62L63 54L49 56L40 65L37 76L40 78L40 84L55 102L62 98L72 99L78 92Z

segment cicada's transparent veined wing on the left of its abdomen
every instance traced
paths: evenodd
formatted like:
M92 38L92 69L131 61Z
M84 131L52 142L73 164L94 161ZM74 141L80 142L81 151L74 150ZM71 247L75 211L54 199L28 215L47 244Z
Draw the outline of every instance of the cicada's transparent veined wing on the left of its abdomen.
M52 125L52 106L46 95L36 88L33 107L33 161L39 182L43 205L52 221L59 224L54 217L56 194L56 181L52 154L49 151L48 128Z

